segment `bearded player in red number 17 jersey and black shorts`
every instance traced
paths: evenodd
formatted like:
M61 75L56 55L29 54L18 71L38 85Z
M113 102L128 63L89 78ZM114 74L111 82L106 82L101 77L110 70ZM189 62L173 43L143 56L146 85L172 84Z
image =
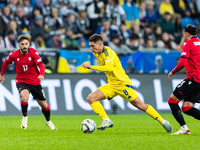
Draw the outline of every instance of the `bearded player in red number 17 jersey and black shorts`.
M29 47L30 39L26 35L21 35L18 38L20 49L11 52L2 65L0 82L4 82L4 73L8 65L12 62L15 63L16 70L16 85L21 96L22 108L22 123L21 128L27 128L28 116L28 98L29 93L37 100L38 104L42 107L42 112L46 118L46 125L55 130L56 127L50 120L50 109L46 101L43 88L40 82L44 80L45 67L38 55L37 50ZM39 68L39 69L38 69Z

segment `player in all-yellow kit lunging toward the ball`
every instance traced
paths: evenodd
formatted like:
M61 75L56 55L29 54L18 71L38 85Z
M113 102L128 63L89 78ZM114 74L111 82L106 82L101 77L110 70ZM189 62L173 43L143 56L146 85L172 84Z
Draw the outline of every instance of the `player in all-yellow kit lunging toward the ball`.
M103 99L109 100L120 95L133 106L146 112L149 116L157 120L167 132L172 132L172 127L169 122L164 120L151 105L144 104L140 100L131 84L131 80L122 68L118 56L111 48L103 45L102 37L98 34L92 35L89 38L89 45L100 66L91 66L89 64L83 64L82 66L84 68L104 72L108 78L108 84L99 87L87 97L87 101L94 112L103 119L103 123L98 126L97 129L105 130L114 125L99 101Z

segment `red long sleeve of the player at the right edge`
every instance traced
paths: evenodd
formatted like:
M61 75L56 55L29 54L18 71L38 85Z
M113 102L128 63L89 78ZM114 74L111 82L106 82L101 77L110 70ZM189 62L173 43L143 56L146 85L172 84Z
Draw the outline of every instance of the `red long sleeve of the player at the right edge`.
M190 47L191 46L188 42L183 43L181 59L180 59L179 63L177 64L177 66L172 70L172 73L176 73L184 68L184 66L186 65L186 63L188 61L188 57L190 55L190 49L191 49Z

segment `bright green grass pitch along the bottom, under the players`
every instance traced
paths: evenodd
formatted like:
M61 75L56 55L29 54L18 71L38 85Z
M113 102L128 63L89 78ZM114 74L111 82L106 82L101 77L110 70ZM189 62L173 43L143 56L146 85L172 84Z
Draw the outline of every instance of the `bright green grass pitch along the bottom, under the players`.
M161 114L170 121L173 130L179 125L171 114ZM57 127L51 131L43 116L29 116L28 128L20 128L21 116L0 117L1 150L193 150L199 149L200 122L184 115L191 135L170 135L146 114L109 115L113 128L95 130L92 134L81 131L84 119L90 118L101 124L96 115L53 115Z

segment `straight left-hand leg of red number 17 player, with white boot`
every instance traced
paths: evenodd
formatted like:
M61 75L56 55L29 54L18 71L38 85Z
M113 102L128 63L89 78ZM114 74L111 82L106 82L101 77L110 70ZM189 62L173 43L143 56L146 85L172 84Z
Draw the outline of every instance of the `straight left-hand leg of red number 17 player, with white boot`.
M29 88L28 85L25 83L18 83L17 88L20 93L21 97L21 110L22 110L22 122L21 122L21 128L26 129L28 124L28 116L27 116L27 110L28 110L28 98L29 98Z

